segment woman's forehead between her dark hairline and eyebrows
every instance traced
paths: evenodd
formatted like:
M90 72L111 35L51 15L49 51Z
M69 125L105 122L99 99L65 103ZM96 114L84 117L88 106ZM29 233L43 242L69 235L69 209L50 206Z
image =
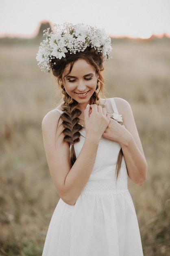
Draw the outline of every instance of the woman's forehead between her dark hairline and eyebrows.
M71 64L69 63L65 67L63 76L67 76L67 74L70 72L70 66ZM90 73L96 73L95 68L84 59L78 59L77 61L74 62L72 66L72 70L69 73L69 76L78 76L78 75L84 76L85 74L90 74Z

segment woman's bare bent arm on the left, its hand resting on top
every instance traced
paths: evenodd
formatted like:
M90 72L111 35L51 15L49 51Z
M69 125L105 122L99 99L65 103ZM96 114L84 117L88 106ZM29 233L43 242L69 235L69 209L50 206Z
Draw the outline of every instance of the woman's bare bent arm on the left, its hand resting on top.
M89 115L89 111L91 114ZM85 110L86 138L76 162L70 167L70 149L63 141L60 114L50 111L42 122L44 147L50 173L59 196L67 204L75 204L92 172L100 138L109 124L110 117L100 106ZM90 160L90 161L89 161Z

